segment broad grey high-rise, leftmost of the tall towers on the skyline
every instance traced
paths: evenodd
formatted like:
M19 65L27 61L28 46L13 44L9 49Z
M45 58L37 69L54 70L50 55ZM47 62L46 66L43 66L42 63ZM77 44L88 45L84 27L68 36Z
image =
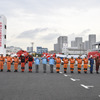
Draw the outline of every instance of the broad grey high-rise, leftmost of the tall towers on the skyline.
M59 47L60 53L62 53L63 43L67 44L67 46L68 46L68 37L67 36L58 37L58 47Z

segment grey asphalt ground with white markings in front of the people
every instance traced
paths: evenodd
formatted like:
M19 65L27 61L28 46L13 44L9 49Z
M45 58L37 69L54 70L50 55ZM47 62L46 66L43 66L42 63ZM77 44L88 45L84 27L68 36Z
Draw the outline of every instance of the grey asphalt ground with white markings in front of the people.
M12 66L12 72L0 72L0 100L100 100L100 74L70 74L55 72L51 74L49 66L47 73L43 73L42 64L40 72L28 72L26 64L25 72L15 73Z

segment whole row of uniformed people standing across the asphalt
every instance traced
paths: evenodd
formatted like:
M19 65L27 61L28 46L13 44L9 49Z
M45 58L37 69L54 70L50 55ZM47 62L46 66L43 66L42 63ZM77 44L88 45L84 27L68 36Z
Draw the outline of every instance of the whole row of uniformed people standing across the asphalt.
M11 71L11 63L12 63L12 57L10 55L8 55L7 57L3 57L3 54L1 54L1 56L0 56L0 70L1 70L1 72L3 71L5 59L7 59L7 72L10 72ZM13 59L14 59L14 70L15 70L14 72L17 72L19 58L16 55ZM26 63L24 54L22 54L20 59L21 59L21 71L24 72L25 63ZM49 65L50 65L50 72L53 73L53 66L54 66L55 61L56 61L56 72L59 73L60 65L61 65L60 57L53 58L53 56L51 55L51 57L48 59L49 59ZM44 73L46 73L46 65L48 62L46 56L44 55L44 57L42 57L41 60L42 60L42 64L43 64ZM73 57L71 57L70 59L67 59L67 57L65 57L63 59L64 73L67 72L67 67L68 67L69 62L70 62L70 71L71 71L71 73L74 73L75 60L77 61L78 73L81 73L82 61L84 61L84 65L83 65L84 73L87 73L88 66L90 67L90 73L93 73L94 58L92 56L89 59L87 57L85 57L84 59L81 59L81 57L78 57L77 59L74 59ZM89 60L90 60L90 65L88 65ZM38 73L40 59L39 59L38 55L36 55L36 58L34 59L31 54L29 55L29 58L28 58L29 72L32 72L33 61L35 61L36 73ZM98 74L99 73L98 70L99 70L99 65L100 65L100 58L97 57L95 59L95 62L96 62L96 72Z

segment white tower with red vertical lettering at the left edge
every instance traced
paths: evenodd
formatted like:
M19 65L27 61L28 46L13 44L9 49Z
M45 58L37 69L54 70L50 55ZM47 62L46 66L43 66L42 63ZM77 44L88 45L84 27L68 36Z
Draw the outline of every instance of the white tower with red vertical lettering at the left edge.
M0 54L6 56L6 17L0 16Z

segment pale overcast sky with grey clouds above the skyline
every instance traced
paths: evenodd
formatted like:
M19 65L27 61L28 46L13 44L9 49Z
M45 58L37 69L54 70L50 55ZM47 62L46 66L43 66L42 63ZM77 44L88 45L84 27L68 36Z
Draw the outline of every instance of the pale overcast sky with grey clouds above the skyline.
M7 46L53 49L59 36L88 40L100 37L100 0L0 0L0 14L7 18Z

